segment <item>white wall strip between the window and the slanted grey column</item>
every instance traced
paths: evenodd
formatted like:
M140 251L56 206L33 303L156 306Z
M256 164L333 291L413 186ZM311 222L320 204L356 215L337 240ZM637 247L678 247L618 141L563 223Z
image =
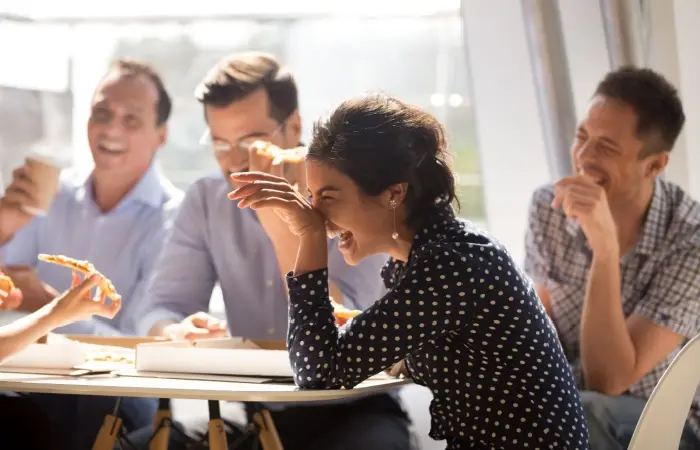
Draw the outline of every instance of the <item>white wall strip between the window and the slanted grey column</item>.
M520 262L532 191L550 181L523 9L463 0L462 14L488 228Z

